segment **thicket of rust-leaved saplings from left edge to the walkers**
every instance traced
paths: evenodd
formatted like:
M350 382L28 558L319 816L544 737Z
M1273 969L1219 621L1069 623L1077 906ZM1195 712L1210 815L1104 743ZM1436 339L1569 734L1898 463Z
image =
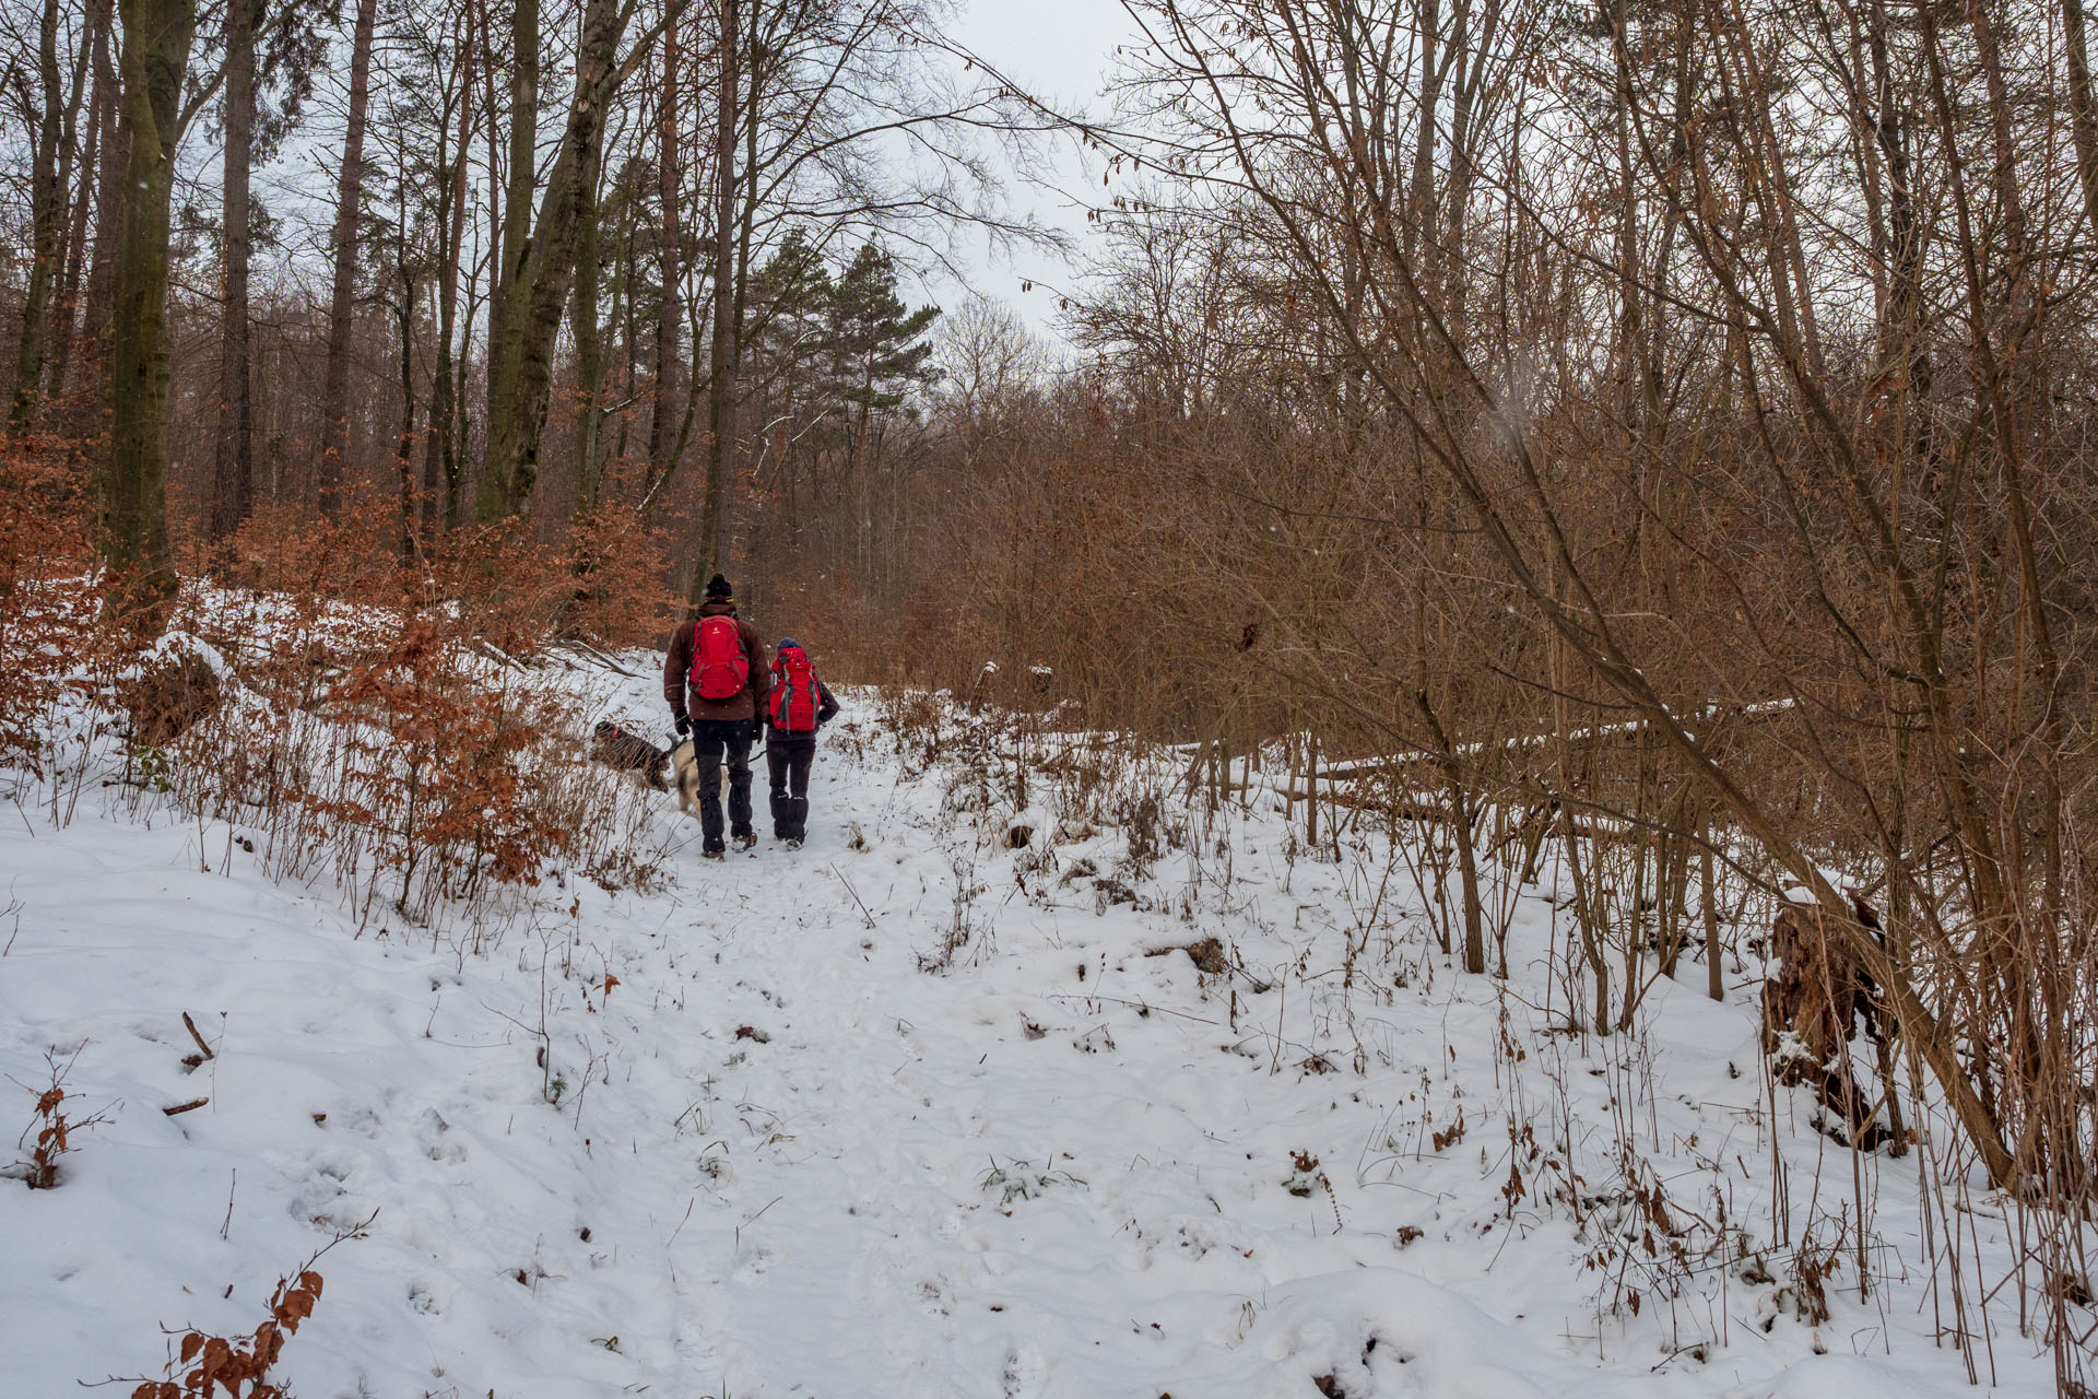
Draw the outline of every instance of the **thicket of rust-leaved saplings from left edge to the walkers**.
M646 805L585 761L587 677L623 669L604 644L640 633L592 608L652 617L655 579L579 581L573 554L508 539L399 573L373 550L384 520L258 518L243 583L187 573L141 650L107 606L67 453L8 468L0 761L25 810L65 824L103 789L172 801L199 831L222 822L206 868L260 860L401 933L464 919L476 948L520 908L510 891L550 875L659 877ZM621 583L638 591L611 600Z

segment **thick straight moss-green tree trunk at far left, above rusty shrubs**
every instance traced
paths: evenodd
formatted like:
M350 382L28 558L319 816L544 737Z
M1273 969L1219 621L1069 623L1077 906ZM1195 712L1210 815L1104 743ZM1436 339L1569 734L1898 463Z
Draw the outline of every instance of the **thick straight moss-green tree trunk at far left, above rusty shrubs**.
M122 0L128 162L115 254L109 354L109 455L101 472L107 608L141 638L159 636L174 602L162 413L168 403L168 199L180 138L183 78L195 0Z

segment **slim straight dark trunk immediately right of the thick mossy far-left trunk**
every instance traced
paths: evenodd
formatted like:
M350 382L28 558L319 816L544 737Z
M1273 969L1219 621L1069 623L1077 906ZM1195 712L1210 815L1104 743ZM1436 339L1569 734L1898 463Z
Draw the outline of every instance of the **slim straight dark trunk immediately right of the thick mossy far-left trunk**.
M254 373L248 359L248 168L256 120L256 0L227 0L224 308L218 323L218 453L212 541L248 518L254 493Z

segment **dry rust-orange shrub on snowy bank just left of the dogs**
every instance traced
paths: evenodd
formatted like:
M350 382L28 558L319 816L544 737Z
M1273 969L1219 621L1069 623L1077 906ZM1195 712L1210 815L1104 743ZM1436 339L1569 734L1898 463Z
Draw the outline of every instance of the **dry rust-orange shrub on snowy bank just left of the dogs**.
M235 701L170 749L172 791L260 837L281 879L331 875L369 914L537 883L569 860L652 877L646 812L579 761L579 701L487 648L455 608L222 596L191 625L229 652Z

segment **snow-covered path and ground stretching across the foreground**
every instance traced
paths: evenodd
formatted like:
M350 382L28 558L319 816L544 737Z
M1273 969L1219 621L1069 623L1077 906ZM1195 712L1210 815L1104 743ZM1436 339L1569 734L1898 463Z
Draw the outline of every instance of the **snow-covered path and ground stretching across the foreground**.
M1376 839L1305 854L1257 803L1131 862L1036 774L1015 849L848 703L804 849L701 862L663 799L667 889L550 883L483 954L216 822L0 812L0 1122L46 1053L107 1118L57 1189L0 1181L0 1393L159 1376L367 1219L285 1349L304 1399L1972 1393L1922 1154L1855 1175L1773 1101L1752 969L1550 1032L1542 891L1469 977ZM1968 1206L1978 1326L2008 1225ZM1985 1319L1981 1380L2046 1393L2008 1290Z

